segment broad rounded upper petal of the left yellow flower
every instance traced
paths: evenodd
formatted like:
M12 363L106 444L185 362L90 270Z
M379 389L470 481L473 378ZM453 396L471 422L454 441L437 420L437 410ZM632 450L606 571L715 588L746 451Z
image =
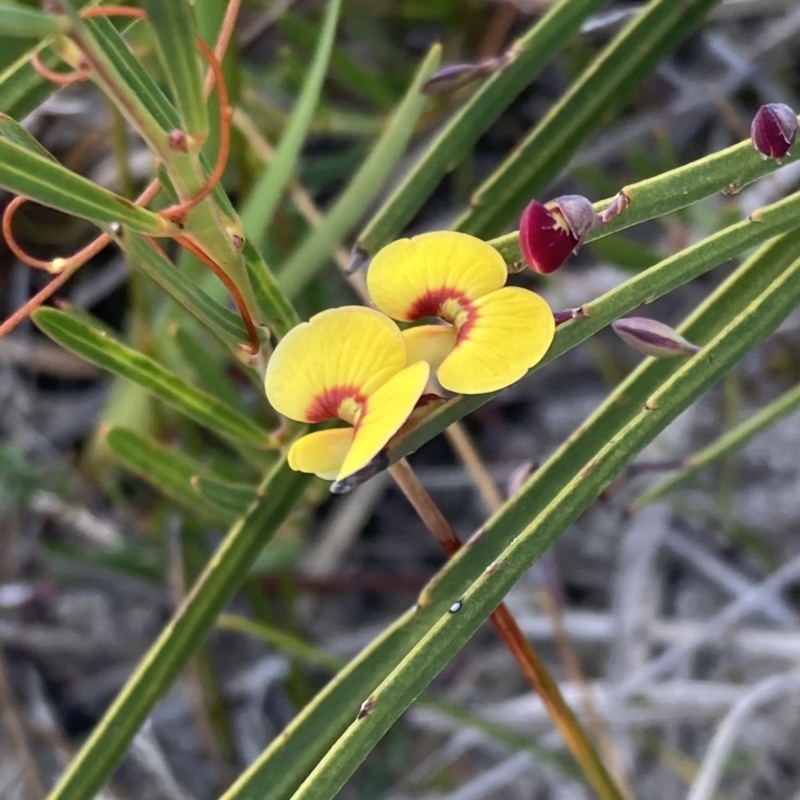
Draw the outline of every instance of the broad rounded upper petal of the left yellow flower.
M293 328L267 364L264 387L279 413L300 422L337 416L350 395L369 395L406 365L399 328L378 311L344 306Z

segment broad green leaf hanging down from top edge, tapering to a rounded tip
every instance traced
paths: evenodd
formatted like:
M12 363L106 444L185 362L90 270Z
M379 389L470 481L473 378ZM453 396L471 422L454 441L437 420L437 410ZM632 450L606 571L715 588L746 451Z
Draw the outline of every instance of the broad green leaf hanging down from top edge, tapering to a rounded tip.
M194 13L188 0L145 0L153 41L184 132L200 146L208 136L208 108L197 46Z

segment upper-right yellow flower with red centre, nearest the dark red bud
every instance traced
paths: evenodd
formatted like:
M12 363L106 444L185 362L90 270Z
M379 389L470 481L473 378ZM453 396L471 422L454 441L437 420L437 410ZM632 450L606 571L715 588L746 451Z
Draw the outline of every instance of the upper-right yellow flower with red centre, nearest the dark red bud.
M519 380L550 347L553 312L527 289L505 286L508 270L489 244L436 231L384 247L369 267L375 305L394 319L438 317L403 332L408 362L424 360L452 392L482 394Z

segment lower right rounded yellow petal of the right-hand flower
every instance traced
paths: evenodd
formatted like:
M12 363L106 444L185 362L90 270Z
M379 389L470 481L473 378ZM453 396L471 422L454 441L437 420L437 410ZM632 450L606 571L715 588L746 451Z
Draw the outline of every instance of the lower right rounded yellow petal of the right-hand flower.
M553 341L553 312L539 295L506 287L475 302L476 315L437 377L460 394L495 392L518 381Z

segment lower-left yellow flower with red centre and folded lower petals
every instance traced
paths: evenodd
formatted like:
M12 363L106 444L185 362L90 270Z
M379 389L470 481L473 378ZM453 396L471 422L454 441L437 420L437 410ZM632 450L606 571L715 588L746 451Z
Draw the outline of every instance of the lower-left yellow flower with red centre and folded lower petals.
M425 389L428 364L407 364L400 329L370 308L329 309L289 331L267 364L270 404L298 422L338 419L352 426L300 437L289 466L337 480L366 466Z

